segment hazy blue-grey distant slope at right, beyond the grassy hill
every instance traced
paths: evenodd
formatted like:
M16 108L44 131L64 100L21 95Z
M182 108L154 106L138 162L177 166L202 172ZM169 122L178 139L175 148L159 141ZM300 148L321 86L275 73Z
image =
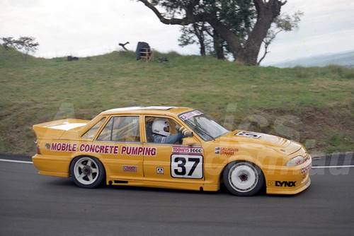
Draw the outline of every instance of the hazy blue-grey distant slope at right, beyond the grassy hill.
M334 54L321 54L313 57L302 57L290 61L281 61L279 63L267 63L263 66L276 66L280 68L295 67L295 66L330 66L338 65L347 68L354 68L354 51L340 52Z

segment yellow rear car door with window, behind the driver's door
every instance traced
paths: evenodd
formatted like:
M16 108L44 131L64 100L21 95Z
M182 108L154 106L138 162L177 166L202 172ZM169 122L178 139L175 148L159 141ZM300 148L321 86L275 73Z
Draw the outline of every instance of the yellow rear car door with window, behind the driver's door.
M139 116L112 116L97 136L96 146L108 147L101 153L108 178L143 177L143 152Z

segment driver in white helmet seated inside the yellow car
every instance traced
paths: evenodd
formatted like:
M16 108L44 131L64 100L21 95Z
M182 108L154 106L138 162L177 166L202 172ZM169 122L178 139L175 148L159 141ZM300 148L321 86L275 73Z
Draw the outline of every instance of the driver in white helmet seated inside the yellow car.
M156 119L152 124L152 136L155 143L176 143L193 133L181 126L176 126L177 134L171 135L169 123L165 119Z

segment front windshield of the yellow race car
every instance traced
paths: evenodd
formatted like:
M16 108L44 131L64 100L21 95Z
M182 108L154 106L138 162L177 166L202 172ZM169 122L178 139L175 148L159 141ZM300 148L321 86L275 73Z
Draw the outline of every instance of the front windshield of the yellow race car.
M181 114L179 117L204 141L213 140L229 132L223 126L217 124L213 119L198 110Z

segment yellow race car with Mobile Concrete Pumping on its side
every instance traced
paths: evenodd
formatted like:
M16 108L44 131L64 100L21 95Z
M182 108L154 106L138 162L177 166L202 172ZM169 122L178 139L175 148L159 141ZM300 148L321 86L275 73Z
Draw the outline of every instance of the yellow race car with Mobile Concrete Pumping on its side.
M125 107L91 121L35 124L33 164L42 175L101 184L218 191L237 196L297 194L310 185L312 158L278 136L228 131L188 107Z

